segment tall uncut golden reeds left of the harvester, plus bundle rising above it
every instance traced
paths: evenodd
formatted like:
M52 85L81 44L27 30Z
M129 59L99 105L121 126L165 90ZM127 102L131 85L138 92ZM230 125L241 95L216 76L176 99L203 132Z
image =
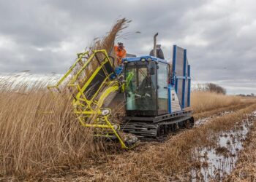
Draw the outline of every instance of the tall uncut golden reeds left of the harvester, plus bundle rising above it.
M125 18L117 20L106 36L94 42L92 49L110 52L127 23ZM94 64L90 67L95 68ZM53 100L45 82L13 84L10 79L0 80L0 178L23 178L67 164L78 165L97 154L101 147L75 119L67 92Z

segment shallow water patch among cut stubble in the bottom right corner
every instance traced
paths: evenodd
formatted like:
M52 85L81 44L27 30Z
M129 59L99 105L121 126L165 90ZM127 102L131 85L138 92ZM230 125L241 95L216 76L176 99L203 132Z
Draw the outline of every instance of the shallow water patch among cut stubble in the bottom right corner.
M222 132L217 138L217 145L195 149L198 167L191 171L192 181L222 181L236 167L238 152L243 149L243 142L252 126L256 111L247 115L236 130Z

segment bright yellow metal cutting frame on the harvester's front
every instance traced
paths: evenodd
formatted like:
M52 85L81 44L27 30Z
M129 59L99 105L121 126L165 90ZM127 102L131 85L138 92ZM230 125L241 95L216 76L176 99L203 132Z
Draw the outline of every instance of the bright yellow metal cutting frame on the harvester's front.
M103 57L102 60L99 60L97 56L99 53ZM94 128L95 136L117 138L123 149L130 149L125 145L124 141L118 134L118 130L116 130L114 127L114 125L118 126L118 124L112 124L108 119L111 114L110 108L102 108L102 104L104 103L105 99L108 98L108 95L110 95L112 92L117 92L122 87L122 83L119 82L118 79L110 79L110 76L114 74L114 72L112 74L108 74L108 71L106 71L105 64L110 63L112 68L113 64L111 63L110 58L108 57L108 54L105 50L92 51L92 54L86 60L86 63L83 63L81 60L82 58L85 58L85 55L89 55L89 52L82 52L78 54L78 59L69 68L67 73L64 74L64 76L55 85L48 86L48 89L51 91L51 88L56 88L60 92L59 86L67 79L69 75L71 75L72 79L69 80L65 87L73 88L73 90L75 89L76 91L76 94L72 95L72 105L74 108L74 113L77 116L80 124L83 127ZM87 66L89 66L89 63L95 60L97 60L99 63L99 67L93 72L89 79L83 83L82 87L80 87L80 84L78 84L78 77L83 73L83 71L86 70ZM80 63L82 66L80 66L80 68L78 67L79 70L77 74L72 75L72 71L75 69L75 67L78 66L78 63ZM95 76L97 76L100 70L103 70L105 79L100 84L98 90L92 93L92 97L88 98L85 94L86 88L89 87L89 84L95 78ZM103 88L107 89L102 91L101 95L99 96L98 94ZM118 127L118 129L120 129L120 127Z

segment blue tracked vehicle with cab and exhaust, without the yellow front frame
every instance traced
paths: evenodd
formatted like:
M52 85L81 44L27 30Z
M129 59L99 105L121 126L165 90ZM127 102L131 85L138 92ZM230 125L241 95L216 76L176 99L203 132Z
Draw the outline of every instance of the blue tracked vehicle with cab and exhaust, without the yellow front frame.
M187 50L173 46L173 62L154 55L125 58L126 113L121 130L144 139L162 139L179 127L192 127L190 66ZM132 78L130 78L132 75Z

